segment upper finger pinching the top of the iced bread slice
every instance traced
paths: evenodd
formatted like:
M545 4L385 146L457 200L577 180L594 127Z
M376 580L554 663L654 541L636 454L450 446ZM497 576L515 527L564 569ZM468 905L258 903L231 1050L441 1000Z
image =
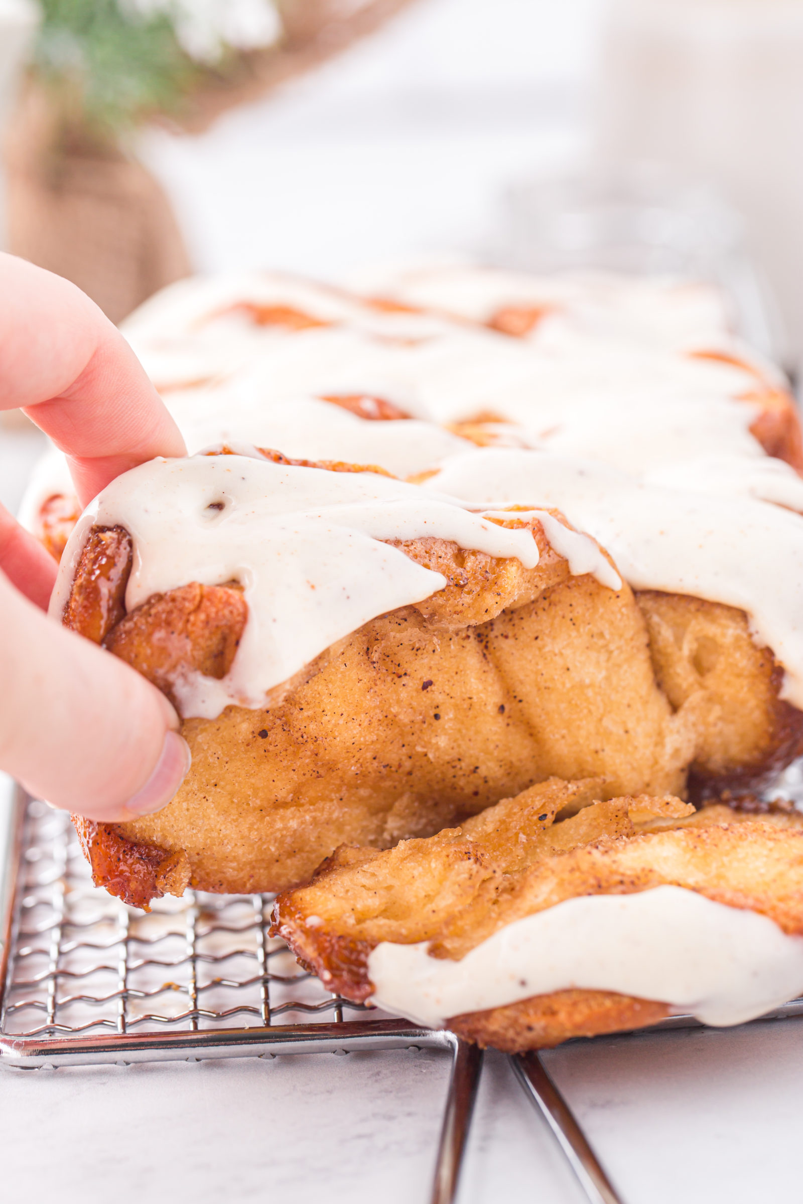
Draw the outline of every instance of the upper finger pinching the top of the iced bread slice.
M136 355L75 284L0 254L0 409L19 407L69 460L82 503L184 441Z

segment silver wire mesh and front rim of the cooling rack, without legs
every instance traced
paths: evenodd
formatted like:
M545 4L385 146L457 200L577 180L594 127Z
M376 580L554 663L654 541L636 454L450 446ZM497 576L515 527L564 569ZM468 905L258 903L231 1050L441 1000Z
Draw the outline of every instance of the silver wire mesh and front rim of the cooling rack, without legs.
M20 795L14 828L0 1064L138 1061L157 1050L149 1038L165 1054L191 1044L253 1054L255 1040L284 1045L303 1033L318 1045L333 1028L350 1037L366 1023L448 1044L324 990L268 934L270 895L187 891L143 913L93 886L64 811Z

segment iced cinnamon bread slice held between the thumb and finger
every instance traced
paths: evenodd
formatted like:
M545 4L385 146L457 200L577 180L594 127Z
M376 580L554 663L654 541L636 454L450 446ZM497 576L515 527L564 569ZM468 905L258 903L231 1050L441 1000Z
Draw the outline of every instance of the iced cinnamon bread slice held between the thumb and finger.
M184 719L169 807L81 821L140 904L181 883L177 857L183 885L278 890L344 842L429 836L551 774L683 790L693 754L632 591L554 510L483 515L256 452L154 461L83 517L54 608Z

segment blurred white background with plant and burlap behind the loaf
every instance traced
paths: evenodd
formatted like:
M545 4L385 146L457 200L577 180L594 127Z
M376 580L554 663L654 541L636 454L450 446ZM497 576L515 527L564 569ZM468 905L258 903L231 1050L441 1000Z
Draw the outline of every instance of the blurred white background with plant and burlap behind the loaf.
M719 279L803 354L803 0L0 0L2 244L114 320L191 271Z

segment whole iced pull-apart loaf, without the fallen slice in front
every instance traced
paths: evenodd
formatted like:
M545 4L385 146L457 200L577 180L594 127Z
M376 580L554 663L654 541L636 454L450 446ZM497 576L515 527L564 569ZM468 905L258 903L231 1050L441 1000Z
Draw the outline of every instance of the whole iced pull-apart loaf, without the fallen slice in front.
M164 811L78 821L130 902L283 889L550 775L743 796L803 750L801 429L715 294L385 285L183 282L128 324L190 450L243 453L120 478L63 562L58 618L164 690L193 751ZM58 555L55 474L29 525Z

